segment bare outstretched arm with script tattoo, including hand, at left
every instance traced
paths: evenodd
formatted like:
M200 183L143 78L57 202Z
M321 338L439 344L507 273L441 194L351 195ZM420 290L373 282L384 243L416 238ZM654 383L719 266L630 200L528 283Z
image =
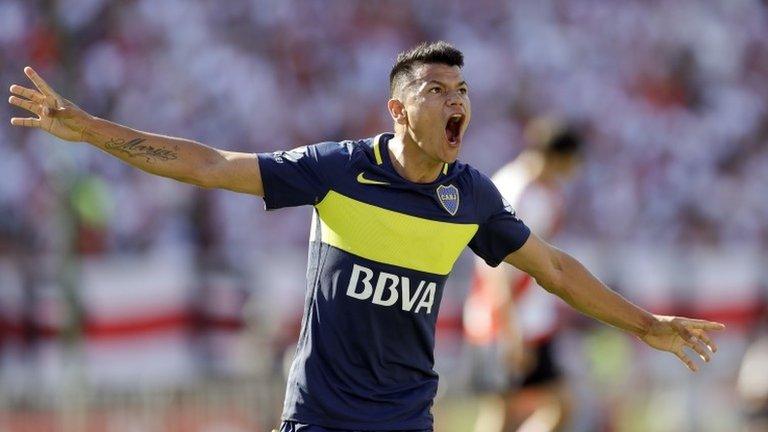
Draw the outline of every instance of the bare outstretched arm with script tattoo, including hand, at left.
M8 102L37 115L11 119L14 126L43 129L67 141L84 141L148 173L206 188L263 196L256 154L215 149L103 120L61 97L30 67L36 90L12 85Z

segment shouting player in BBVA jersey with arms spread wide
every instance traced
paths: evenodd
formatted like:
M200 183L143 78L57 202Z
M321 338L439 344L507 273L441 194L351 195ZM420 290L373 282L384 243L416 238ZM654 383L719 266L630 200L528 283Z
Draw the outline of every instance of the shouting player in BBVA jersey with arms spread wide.
M311 205L307 293L282 431L430 431L435 320L465 246L511 264L577 310L696 364L721 324L638 308L576 259L530 234L496 187L458 162L471 119L463 55L445 42L400 54L390 72L394 133L290 151L240 153L95 118L31 68L37 89L9 102L11 124L85 141L149 173L264 197L268 210ZM350 101L353 103L353 101Z

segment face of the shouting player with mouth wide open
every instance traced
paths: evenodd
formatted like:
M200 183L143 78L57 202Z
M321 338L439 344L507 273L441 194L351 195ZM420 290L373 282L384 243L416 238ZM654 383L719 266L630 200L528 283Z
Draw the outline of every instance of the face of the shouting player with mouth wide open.
M421 64L401 92L406 135L431 159L456 160L469 125L469 89L458 66Z

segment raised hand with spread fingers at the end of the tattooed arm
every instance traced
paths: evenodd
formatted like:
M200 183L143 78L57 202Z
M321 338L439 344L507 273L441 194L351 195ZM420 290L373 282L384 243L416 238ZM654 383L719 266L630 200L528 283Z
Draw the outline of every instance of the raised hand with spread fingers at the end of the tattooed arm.
M8 102L37 117L14 117L11 124L43 129L67 141L83 141L86 122L91 116L56 93L31 67L25 67L24 73L36 90L14 84L10 88L13 96Z

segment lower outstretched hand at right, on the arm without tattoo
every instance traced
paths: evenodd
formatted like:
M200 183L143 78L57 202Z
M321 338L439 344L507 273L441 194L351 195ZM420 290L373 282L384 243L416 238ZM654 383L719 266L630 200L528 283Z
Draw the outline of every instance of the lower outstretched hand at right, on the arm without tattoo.
M702 360L708 362L712 354L717 351L717 346L707 335L707 330L725 328L721 323L706 320L664 315L654 315L654 317L656 318L654 324L646 334L640 336L640 340L653 348L676 355L693 372L699 368L683 348L690 348Z

